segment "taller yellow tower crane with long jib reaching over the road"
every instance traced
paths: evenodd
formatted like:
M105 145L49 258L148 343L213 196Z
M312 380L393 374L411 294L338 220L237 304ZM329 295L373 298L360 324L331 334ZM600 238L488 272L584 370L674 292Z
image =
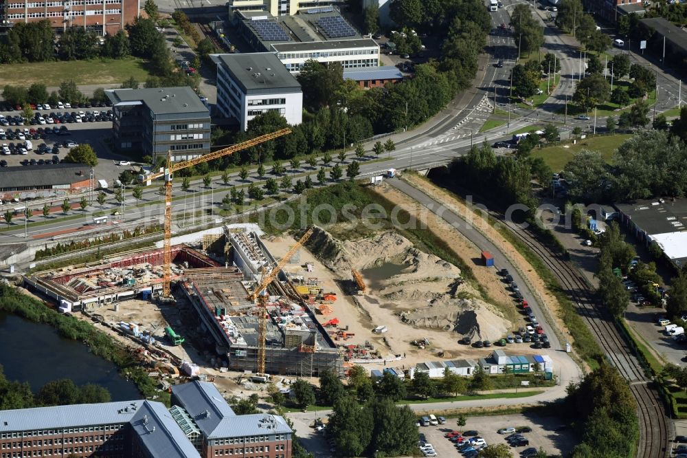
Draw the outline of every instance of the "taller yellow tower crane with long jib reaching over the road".
M165 245L163 255L164 265L162 270L163 300L172 298L172 295L170 294L170 283L172 281L172 177L174 176L174 172L180 171L182 168L188 168L196 164L201 164L201 162L207 162L217 159L218 157L234 154L236 151L241 151L263 142L268 142L269 140L281 137L287 133L291 133L291 129L281 129L272 133L266 133L265 135L260 135L259 137L247 140L246 142L214 151L214 153L209 153L183 162L174 162L174 164L172 164L171 151L168 151L167 164L164 168L164 171L153 173L153 175L148 176L146 181L152 181L153 179L157 179L159 177L165 177Z

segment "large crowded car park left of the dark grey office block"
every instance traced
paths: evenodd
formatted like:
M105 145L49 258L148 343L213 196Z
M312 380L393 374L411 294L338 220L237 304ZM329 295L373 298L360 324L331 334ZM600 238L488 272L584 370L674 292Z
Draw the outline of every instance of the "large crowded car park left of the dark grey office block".
M76 113L78 113L78 111L84 111L85 113L91 114L93 114L93 111L98 111L98 113L104 111L107 113L109 109L109 107L77 109ZM55 111L55 113L64 113L64 111ZM10 116L19 116L20 112L5 111L0 114L5 116L5 118L9 118ZM93 118L95 118L95 116L93 116ZM55 127L57 129L66 127L67 133L52 133ZM10 154L0 155L0 160L5 161L7 164L6 166L22 166L23 164L27 164L27 167L40 167L41 165L38 164L38 162L43 160L44 162L52 164L54 156L63 160L69 152L69 148L65 146L65 142L69 142L70 140L75 144L87 143L91 145L93 151L95 151L95 154L98 156L98 165L95 166L95 179L106 179L107 182L111 182L124 171L123 167L117 166L117 162L120 160L131 160L129 157L111 152L107 144L108 140L112 137L112 122L110 120L34 125L29 122L24 122L24 125L8 125L0 126L0 128L3 129L5 133L5 140L0 140L1 144L8 145L8 149L10 149L10 144L14 146L14 148L10 150ZM33 146L32 151L21 154L21 147L25 140L21 140L18 131L23 133L25 129L27 129L27 131L35 131L35 133L38 134L38 138L34 138L34 135L32 135L30 138ZM51 133L45 133L47 130L50 130ZM10 131L12 136L14 136L11 140L8 138L10 137L10 135L8 135ZM25 136L25 138L27 137ZM45 144L47 150L39 151L41 144ZM53 151L56 144L58 144L58 149ZM36 164L32 165L32 160L34 160Z

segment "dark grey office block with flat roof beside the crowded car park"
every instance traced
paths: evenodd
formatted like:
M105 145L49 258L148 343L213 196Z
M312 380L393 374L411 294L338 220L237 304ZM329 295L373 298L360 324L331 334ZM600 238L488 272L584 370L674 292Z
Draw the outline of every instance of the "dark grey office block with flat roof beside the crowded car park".
M210 153L210 111L188 86L110 89L117 151L183 161Z

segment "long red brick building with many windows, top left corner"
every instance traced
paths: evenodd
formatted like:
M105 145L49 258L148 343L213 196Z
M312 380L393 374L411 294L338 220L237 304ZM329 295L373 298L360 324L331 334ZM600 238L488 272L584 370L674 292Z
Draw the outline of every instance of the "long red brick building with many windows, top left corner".
M10 23L47 19L59 32L84 27L100 35L115 34L133 22L140 0L0 0L2 19Z

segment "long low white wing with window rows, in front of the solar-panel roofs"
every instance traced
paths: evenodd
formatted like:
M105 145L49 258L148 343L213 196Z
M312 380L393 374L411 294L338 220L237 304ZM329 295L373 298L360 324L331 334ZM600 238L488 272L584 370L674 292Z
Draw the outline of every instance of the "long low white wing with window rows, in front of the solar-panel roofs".
M379 45L373 39L273 43L272 49L291 73L300 72L306 61L338 62L343 68L379 66Z

